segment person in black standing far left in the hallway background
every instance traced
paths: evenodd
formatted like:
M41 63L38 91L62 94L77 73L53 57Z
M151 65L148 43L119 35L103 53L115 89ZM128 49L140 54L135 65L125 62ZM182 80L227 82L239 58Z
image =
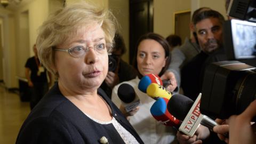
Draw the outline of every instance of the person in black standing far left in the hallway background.
M27 60L25 65L25 76L28 79L28 86L31 93L30 109L33 109L49 90L52 83L51 73L46 70L38 59L36 44L33 46L34 57ZM47 80L47 74L50 81Z

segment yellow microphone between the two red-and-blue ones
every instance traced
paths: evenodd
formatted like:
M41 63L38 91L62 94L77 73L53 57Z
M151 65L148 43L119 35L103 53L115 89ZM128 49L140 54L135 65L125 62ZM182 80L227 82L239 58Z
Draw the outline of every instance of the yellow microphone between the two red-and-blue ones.
M158 98L170 99L172 97L172 93L170 91L166 90L164 86L156 83L151 83L148 86L147 94L149 95L149 97L153 99L158 99Z

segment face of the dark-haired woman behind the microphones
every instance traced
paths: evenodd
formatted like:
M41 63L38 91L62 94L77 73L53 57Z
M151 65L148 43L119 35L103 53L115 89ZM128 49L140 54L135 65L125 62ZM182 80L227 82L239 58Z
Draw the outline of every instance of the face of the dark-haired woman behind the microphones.
M137 53L138 70L142 76L158 75L165 66L165 51L161 44L153 39L140 42Z

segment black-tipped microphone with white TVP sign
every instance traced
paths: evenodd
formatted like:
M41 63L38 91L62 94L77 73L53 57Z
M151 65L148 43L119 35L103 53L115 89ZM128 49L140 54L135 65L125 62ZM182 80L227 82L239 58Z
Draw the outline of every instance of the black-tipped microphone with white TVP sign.
M196 101L189 99L185 95L175 94L167 103L168 111L176 118L183 122L179 127L179 131L192 137L200 124L208 127L211 131L214 126L218 125L213 119L201 114L199 109L201 101L201 93Z

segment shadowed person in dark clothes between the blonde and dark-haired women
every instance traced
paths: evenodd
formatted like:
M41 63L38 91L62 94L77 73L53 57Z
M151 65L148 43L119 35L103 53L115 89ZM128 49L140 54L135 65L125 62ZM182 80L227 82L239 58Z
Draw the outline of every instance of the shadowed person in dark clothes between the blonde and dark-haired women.
M109 55L109 70L105 81L101 84L111 99L113 87L124 81L130 81L137 76L136 70L122 59L122 55L126 52L123 37L116 33L114 37L113 51Z

